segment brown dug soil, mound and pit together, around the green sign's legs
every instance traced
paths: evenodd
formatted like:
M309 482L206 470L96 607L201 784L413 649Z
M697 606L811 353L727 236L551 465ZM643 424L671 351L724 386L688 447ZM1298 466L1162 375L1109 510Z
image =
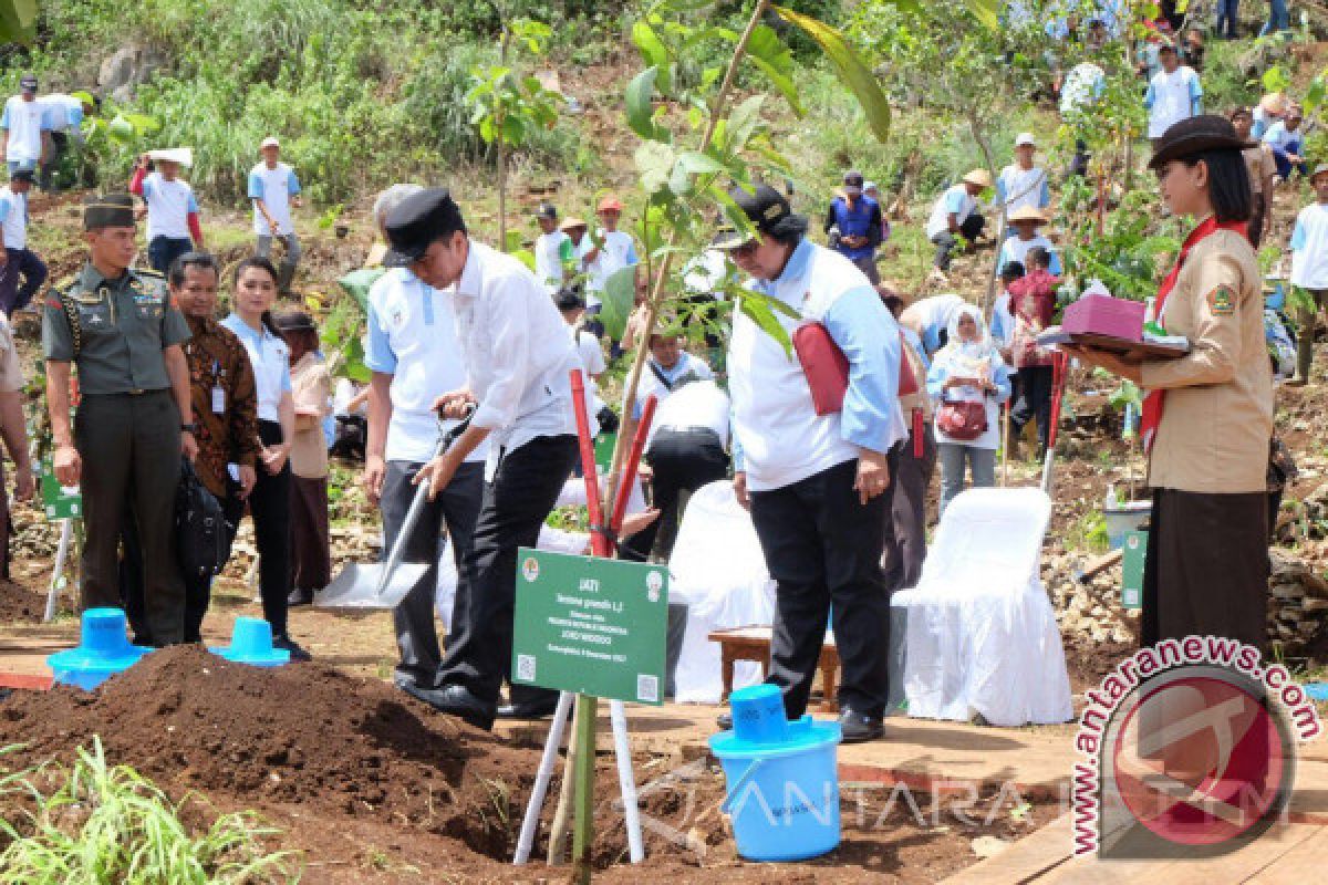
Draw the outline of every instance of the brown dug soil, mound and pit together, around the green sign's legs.
M0 746L25 744L9 767L73 758L100 735L170 795L201 792L220 809L258 809L303 849L305 881L513 881L510 862L539 751L515 747L433 713L389 685L317 663L260 670L199 647L155 651L100 690L15 693L0 705ZM599 759L594 862L610 881L930 882L976 861L977 836L1017 839L1050 820L1054 803L983 793L965 824L915 789L846 785L841 848L797 866L744 864L718 812L724 778L705 760L636 760L647 864L627 847L612 758ZM560 770L560 767L559 767ZM550 791L556 796L558 780ZM552 801L534 857L543 858ZM934 811L939 819L934 819ZM886 812L886 813L883 813ZM1013 812L1013 813L1012 813ZM963 808L960 808L963 813ZM316 870L316 873L315 873ZM531 878L551 873L530 866ZM562 870L556 873L562 876Z

